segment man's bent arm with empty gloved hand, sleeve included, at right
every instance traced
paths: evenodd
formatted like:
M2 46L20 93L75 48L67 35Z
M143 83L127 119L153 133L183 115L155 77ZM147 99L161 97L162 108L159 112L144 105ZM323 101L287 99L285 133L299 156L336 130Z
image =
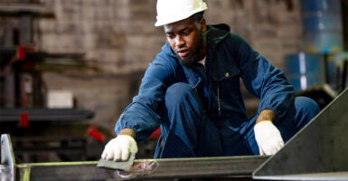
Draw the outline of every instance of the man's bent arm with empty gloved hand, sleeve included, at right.
M238 46L237 46L238 45ZM250 93L259 97L259 116L254 133L260 155L274 155L284 146L283 138L273 122L285 116L294 89L283 71L255 52L248 43L235 36L236 54L244 84Z

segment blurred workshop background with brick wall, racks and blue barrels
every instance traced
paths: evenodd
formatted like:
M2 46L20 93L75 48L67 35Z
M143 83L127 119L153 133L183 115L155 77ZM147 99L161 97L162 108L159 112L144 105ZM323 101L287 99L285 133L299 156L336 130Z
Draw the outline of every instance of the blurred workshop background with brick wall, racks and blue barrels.
M322 108L347 86L347 0L207 0ZM165 43L155 0L0 0L0 132L24 162L99 159ZM244 88L241 85L241 89ZM245 93L249 114L259 100ZM139 147L152 157L156 135Z

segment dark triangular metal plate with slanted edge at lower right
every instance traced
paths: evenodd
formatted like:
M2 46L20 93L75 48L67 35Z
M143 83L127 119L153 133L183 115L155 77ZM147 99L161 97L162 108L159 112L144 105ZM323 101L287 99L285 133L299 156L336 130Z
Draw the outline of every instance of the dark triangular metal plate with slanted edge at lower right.
M306 127L291 138L284 148L270 157L253 178L293 180L302 174L341 173L348 180L348 89L337 96ZM303 177L300 180L313 180Z

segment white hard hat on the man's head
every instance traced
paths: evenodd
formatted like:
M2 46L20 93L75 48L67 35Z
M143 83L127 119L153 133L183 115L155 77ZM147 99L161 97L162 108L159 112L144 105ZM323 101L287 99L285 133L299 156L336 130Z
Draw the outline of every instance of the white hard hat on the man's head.
M157 0L155 26L178 22L206 9L203 0Z

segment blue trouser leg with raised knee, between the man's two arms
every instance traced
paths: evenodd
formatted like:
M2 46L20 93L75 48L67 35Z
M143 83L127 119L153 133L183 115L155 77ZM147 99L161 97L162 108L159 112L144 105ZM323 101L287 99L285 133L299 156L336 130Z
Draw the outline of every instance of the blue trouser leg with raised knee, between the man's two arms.
M166 90L162 110L162 145L155 157L204 157L221 154L217 129L203 114L196 91L186 83Z

